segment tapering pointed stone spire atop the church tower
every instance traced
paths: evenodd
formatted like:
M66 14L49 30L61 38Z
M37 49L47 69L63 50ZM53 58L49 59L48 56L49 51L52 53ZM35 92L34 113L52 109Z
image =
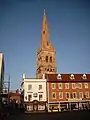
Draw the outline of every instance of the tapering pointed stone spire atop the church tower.
M49 27L46 17L46 10L44 9L44 16L43 16L42 30L41 30L41 49L46 48L48 44L50 44Z

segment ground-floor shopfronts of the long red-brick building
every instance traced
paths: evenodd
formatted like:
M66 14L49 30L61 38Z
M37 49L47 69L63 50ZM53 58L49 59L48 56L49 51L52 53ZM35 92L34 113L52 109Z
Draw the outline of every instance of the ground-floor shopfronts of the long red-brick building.
M65 101L48 103L48 112L88 110L88 109L90 109L90 101Z

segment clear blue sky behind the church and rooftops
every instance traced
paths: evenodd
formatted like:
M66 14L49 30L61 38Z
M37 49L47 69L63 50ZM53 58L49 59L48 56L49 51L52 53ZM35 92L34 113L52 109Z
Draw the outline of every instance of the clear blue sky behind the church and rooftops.
M11 89L20 87L23 73L36 76L44 8L57 51L57 72L90 72L89 0L0 0L0 52Z

